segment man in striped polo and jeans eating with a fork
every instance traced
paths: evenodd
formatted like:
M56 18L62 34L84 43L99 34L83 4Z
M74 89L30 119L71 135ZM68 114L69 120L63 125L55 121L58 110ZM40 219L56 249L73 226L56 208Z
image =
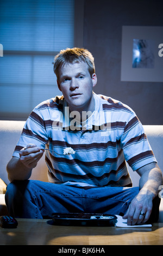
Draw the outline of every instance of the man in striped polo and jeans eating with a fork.
M7 166L10 215L91 212L122 215L129 225L156 221L162 174L133 110L93 93L95 64L85 49L60 51L54 72L63 96L33 110ZM46 151L49 182L28 180L45 146L55 151ZM63 155L66 148L75 153ZM140 174L139 187L131 187L125 160Z

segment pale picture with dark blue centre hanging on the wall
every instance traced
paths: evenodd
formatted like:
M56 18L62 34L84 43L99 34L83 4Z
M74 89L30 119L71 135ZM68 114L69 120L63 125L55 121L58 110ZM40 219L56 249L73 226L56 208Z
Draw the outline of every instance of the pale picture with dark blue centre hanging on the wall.
M123 26L121 81L163 82L163 27Z

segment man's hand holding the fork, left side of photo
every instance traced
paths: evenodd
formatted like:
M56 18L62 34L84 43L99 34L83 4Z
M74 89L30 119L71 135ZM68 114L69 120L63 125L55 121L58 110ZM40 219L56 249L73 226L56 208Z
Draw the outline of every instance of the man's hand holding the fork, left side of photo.
M20 161L27 168L35 168L37 162L41 159L44 150L37 147L35 144L28 144L26 148L20 150Z

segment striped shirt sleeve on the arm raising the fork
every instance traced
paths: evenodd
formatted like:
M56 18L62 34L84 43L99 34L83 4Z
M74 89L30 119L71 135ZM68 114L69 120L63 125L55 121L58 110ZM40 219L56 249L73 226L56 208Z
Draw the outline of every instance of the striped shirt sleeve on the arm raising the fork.
M43 120L41 114L35 108L24 124L23 131L12 156L20 157L19 151L30 143L44 149L49 137L45 123L45 120Z

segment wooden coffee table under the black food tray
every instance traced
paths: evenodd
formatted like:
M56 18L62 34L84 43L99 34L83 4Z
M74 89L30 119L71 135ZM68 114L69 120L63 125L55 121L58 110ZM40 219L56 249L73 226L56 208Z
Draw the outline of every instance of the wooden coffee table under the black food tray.
M16 229L0 227L0 245L163 245L163 223L154 223L152 228L117 228L58 226L51 220L17 221Z

